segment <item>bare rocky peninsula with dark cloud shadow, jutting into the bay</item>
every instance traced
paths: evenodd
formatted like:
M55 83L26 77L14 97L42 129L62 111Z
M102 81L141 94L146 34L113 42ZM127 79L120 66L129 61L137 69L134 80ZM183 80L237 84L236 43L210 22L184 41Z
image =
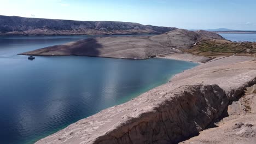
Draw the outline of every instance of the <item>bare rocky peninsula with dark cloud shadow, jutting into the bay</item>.
M126 59L146 59L190 49L198 41L224 39L207 31L175 29L160 35L142 37L104 37L73 41L63 45L45 47L21 55L39 56L94 56Z

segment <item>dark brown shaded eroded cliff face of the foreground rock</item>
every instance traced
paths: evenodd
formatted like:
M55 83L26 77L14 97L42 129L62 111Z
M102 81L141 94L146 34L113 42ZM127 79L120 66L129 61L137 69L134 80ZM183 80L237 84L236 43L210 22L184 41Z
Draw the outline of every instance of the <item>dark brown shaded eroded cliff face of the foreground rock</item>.
M228 105L228 98L217 85L183 86L176 91L178 89L178 93L166 94L152 111L108 131L94 143L175 143L199 134Z

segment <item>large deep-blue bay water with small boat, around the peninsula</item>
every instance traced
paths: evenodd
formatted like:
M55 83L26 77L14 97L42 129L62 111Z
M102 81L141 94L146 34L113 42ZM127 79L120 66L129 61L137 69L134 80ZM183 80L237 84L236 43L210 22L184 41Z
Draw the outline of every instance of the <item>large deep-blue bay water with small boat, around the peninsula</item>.
M33 143L197 65L78 56L36 56L30 61L16 55L84 38L89 36L0 37L1 144Z

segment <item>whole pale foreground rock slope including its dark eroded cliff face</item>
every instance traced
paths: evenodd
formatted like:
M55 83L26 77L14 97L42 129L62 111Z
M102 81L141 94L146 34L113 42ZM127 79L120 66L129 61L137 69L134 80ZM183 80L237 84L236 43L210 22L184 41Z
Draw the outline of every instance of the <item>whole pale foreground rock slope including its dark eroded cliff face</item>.
M254 68L253 65L256 65L256 62L252 60L253 58L251 57L229 56L197 65L195 68L175 75L169 83L143 93L127 103L110 107L93 116L81 119L77 123L71 124L67 128L39 140L37 143L68 143L71 141L73 143L129 143L132 141L138 143L146 139L152 140L142 133L146 131L148 131L147 133L152 133L150 131L155 129L156 125L159 127L160 135L154 134L154 139L168 139L168 141L162 141L161 143L182 141L186 139L185 137L197 135L199 131L207 128L207 125L218 119L222 113L225 112L230 101L240 97L245 87L256 83L255 69L251 69ZM237 72L234 73L234 70L240 67L243 67L243 69L238 69L236 70ZM222 70L224 69L228 69L228 71L225 72L228 73L227 75L222 74ZM198 71L201 71L201 73L198 73ZM230 83L232 84L230 85ZM217 105L217 107L209 109L210 107L204 107L206 106L205 104L191 103L188 95L194 95L195 93L202 95L208 100L212 99L210 95L213 94L219 97L220 101L218 100L219 103L216 103L216 101L210 100L210 105ZM207 96L207 93L211 94ZM193 99L201 101L201 98L196 97L196 95L193 96ZM187 100L190 102L187 103ZM185 104L181 104L183 102L189 104L190 108L185 106ZM177 107L173 107L173 105L169 105L169 103L174 103ZM205 102L201 101L200 103ZM185 107L180 107L178 106L179 104ZM197 111L194 111L195 113L193 115L191 114L191 119L188 122L184 121L184 119L183 121L180 121L181 119L173 119L173 117L170 117L167 113L163 113L167 110L169 113L171 112L172 115L187 117L190 115L189 113L178 114L176 112L181 109L183 109L183 111L191 111L195 109L195 105L200 106L200 109L210 110L208 111L210 113L206 112L205 114L200 114L200 119L204 119L203 121L197 119L199 117L193 116L199 115L195 114ZM173 108L170 109L170 106ZM214 112L215 114L213 114L211 112L212 110L217 113ZM159 117L159 112L162 113L161 117ZM179 132L181 135L171 136L171 133L178 133L178 131L175 132L177 128L175 128L173 124L168 124L168 122L165 121L162 123L165 125L164 126L158 122L159 119L162 119L161 121L164 119L172 119L171 121L176 121L174 125L179 124L185 126L187 124L191 125L194 122L199 125L195 125L195 127L184 127L186 130L179 128L178 130L182 132ZM148 126L146 127L145 124ZM165 129L168 132L164 134ZM134 135L135 133L137 135ZM113 139L114 137L115 139Z

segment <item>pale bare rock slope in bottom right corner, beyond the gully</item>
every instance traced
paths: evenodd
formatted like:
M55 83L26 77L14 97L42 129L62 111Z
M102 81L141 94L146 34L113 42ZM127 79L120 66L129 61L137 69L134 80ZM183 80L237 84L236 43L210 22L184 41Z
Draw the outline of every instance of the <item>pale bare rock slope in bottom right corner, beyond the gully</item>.
M243 143L256 141L256 94L250 92L228 106L228 117L216 123L217 127L200 131L198 136L181 142L191 143Z

